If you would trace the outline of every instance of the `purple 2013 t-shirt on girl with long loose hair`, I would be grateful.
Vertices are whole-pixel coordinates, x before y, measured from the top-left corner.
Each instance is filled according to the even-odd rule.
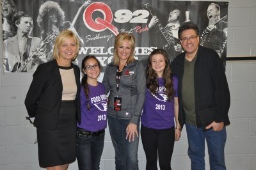
[[[174,126],[174,98],[170,102],[164,94],[165,86],[163,77],[157,78],[159,83],[158,95],[146,92],[141,123],[143,126],[154,129],[166,129]],[[174,97],[178,97],[178,79],[173,75]]]

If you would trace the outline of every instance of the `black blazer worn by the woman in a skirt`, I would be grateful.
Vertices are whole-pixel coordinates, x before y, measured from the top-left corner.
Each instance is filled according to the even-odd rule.
[[[80,70],[72,63],[76,77],[77,121],[81,123],[80,108]],[[54,59],[39,65],[33,74],[25,105],[30,118],[35,117],[34,125],[38,128],[55,130],[58,125],[62,98],[62,81],[58,63]]]

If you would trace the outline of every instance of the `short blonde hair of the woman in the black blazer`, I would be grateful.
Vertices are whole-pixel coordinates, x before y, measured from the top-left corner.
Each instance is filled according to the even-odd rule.
[[[80,49],[80,42],[76,36],[75,33],[73,33],[72,31],[69,30],[63,30],[61,31],[61,33],[57,36],[55,43],[54,43],[54,48],[53,48],[53,59],[58,59],[59,58],[59,52],[58,49],[60,48],[60,45],[65,42],[68,38],[73,38],[74,42],[77,45],[77,49],[76,49],[76,55],[74,56],[73,60],[76,59],[77,54],[79,52]]]

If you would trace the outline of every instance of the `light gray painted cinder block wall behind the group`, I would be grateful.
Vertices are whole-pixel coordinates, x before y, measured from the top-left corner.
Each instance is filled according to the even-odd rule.
[[[228,5],[228,56],[256,56],[256,1],[230,0]],[[0,49],[0,55],[2,50]],[[0,57],[2,58],[2,56]],[[0,61],[0,169],[35,170],[38,166],[36,129],[31,126],[24,98],[32,81],[31,73],[3,74]],[[225,160],[227,169],[256,169],[256,61],[227,62],[226,75],[230,88],[231,125],[227,127]],[[175,143],[172,169],[190,169],[186,130]],[[115,169],[115,152],[108,128],[100,169]],[[145,169],[145,153],[140,142],[140,169]],[[207,148],[206,169],[209,169]],[[77,168],[77,162],[70,164]]]

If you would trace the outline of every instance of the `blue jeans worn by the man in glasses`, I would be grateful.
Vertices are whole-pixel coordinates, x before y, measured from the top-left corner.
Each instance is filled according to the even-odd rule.
[[[223,170],[225,166],[224,148],[227,139],[226,127],[218,132],[213,130],[203,131],[186,123],[188,135],[188,155],[191,160],[191,170],[205,169],[205,139],[208,147],[211,170]]]

